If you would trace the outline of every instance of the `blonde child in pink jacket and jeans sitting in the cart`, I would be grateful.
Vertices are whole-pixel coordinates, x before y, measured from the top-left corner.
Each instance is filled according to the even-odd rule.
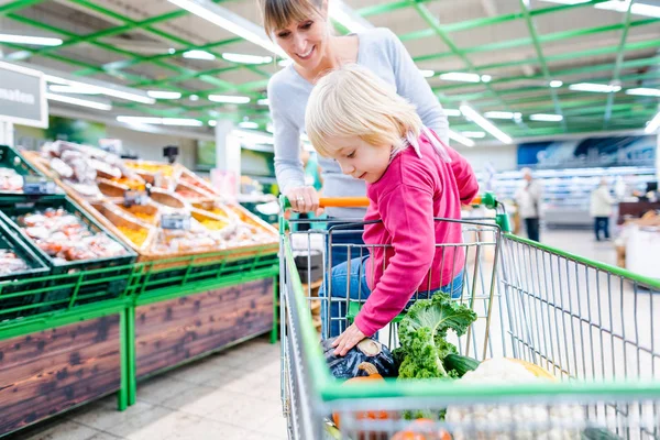
[[[461,224],[433,219],[460,219],[461,202],[473,199],[479,184],[468,161],[424,127],[409,101],[356,64],[317,82],[306,127],[321,156],[366,183],[370,201],[364,218],[370,255],[334,266],[329,283],[332,298],[366,298],[354,323],[333,342],[343,356],[388,324],[418,288],[425,290],[420,297],[438,290],[460,297],[464,251],[436,243],[462,243]],[[326,286],[319,296],[326,296]],[[330,322],[321,306],[323,334],[340,333],[343,305],[331,301]]]

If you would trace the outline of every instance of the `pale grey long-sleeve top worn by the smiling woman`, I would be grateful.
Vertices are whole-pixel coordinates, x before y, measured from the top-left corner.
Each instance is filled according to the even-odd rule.
[[[397,94],[417,107],[424,124],[433,129],[449,144],[449,123],[433,95],[403,43],[388,29],[373,29],[358,34],[358,63],[370,68]],[[300,134],[305,132],[305,110],[314,85],[293,66],[275,74],[268,82],[268,101],[275,130],[275,174],[282,193],[305,186],[300,161]],[[319,157],[323,176],[323,196],[365,196],[366,185],[342,174],[336,161]],[[329,208],[328,216],[346,219],[363,218],[360,208]]]

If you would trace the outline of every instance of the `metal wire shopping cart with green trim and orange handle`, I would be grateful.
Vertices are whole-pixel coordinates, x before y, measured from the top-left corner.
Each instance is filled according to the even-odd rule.
[[[360,224],[296,234],[282,219],[282,399],[289,438],[660,438],[660,324],[653,322],[660,280],[515,237],[507,232],[503,206],[492,197],[486,205],[496,216],[460,221],[464,241],[452,244],[464,250],[455,300],[479,316],[454,342],[461,354],[525,360],[558,381],[387,380],[342,386],[326,364],[319,341],[327,334],[317,332],[310,310],[318,309],[318,301],[343,301],[348,324],[360,300],[346,304],[343,295],[331,293],[315,297],[312,280],[298,275],[294,252],[321,249],[327,280],[333,235]],[[355,256],[370,251],[345,246]],[[380,333],[391,349],[397,344],[396,330],[392,324]],[[406,419],[422,409],[430,420]],[[364,417],[377,411],[391,417]],[[340,431],[329,422],[332,414],[341,417]]]

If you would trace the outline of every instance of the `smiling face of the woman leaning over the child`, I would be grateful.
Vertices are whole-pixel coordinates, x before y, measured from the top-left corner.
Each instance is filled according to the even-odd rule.
[[[323,7],[323,14],[327,9]],[[328,23],[324,16],[314,13],[275,31],[275,41],[298,66],[314,70],[323,58],[328,44]]]

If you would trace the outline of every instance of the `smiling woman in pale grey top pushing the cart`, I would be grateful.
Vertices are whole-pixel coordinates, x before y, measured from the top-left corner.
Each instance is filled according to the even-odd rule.
[[[332,1],[332,0],[330,0]],[[268,82],[268,101],[275,130],[275,174],[279,188],[296,211],[318,211],[316,189],[305,185],[299,138],[305,110],[317,79],[345,63],[358,63],[393,86],[417,108],[424,124],[449,144],[449,127],[442,107],[413,58],[387,29],[336,36],[328,23],[328,0],[261,0],[266,34],[292,58],[292,65]],[[326,197],[365,196],[364,182],[343,175],[333,160],[319,158]],[[337,219],[361,221],[365,209],[329,208],[329,227]],[[332,266],[348,260],[344,243],[363,243],[362,231],[332,234]],[[339,244],[339,245],[338,245]],[[355,251],[353,251],[355,252]],[[355,255],[352,255],[355,256]]]

